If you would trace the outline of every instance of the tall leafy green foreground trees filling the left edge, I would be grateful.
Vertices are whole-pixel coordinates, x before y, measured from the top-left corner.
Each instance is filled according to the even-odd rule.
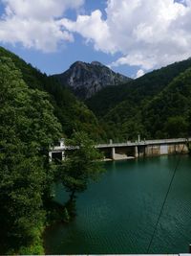
[[[0,253],[42,252],[43,197],[52,179],[47,152],[61,127],[48,95],[29,89],[11,58],[3,57],[0,120]]]

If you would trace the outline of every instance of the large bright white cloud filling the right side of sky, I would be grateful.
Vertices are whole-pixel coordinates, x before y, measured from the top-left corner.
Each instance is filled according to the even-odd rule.
[[[191,56],[191,0],[108,0],[100,11],[60,22],[96,50],[120,53],[111,66],[128,64],[147,71]]]

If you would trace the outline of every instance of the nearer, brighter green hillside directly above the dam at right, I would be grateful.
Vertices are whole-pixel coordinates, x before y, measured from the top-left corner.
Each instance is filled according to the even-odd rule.
[[[191,69],[153,95],[138,102],[123,101],[103,117],[103,126],[116,140],[175,138],[190,134]],[[140,96],[141,97],[141,96]],[[112,128],[112,129],[111,129]]]

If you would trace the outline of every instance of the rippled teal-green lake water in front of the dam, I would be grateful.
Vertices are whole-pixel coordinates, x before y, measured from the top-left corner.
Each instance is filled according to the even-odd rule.
[[[191,157],[108,162],[107,172],[77,198],[77,217],[46,233],[49,254],[146,253],[171,176],[180,165],[149,253],[188,252]],[[56,200],[66,201],[61,186]]]

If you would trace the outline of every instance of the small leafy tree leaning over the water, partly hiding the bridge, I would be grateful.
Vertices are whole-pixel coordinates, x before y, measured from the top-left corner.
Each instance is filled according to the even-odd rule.
[[[67,207],[71,214],[70,206],[74,204],[75,194],[85,191],[89,182],[96,180],[103,168],[100,162],[102,154],[85,132],[74,132],[66,144],[73,146],[74,150],[66,151],[59,172],[66,191],[70,193]]]

